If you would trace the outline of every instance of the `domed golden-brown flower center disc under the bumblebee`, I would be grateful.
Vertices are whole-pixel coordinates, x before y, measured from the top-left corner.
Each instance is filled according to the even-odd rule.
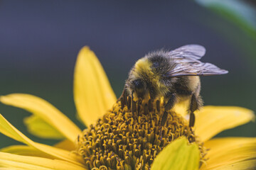
[[[167,113],[161,125],[161,102],[122,98],[78,137],[78,153],[88,169],[150,169],[156,155],[171,141],[181,136],[196,141],[187,120]]]

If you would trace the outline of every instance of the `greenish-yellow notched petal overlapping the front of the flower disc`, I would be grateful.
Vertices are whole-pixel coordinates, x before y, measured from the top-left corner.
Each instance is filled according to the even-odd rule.
[[[182,137],[167,145],[154,159],[151,170],[196,170],[199,167],[199,149],[193,143],[188,145]]]

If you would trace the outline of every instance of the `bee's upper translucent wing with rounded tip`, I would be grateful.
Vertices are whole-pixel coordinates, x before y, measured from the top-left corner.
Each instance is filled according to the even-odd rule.
[[[196,62],[206,54],[206,48],[201,45],[184,45],[169,52],[169,57],[176,62]]]

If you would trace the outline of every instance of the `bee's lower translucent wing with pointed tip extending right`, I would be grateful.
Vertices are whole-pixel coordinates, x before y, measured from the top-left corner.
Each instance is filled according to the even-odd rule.
[[[180,62],[176,63],[175,67],[171,69],[167,75],[168,77],[181,77],[181,76],[210,76],[216,74],[227,74],[228,71],[220,69],[214,64],[208,62]]]

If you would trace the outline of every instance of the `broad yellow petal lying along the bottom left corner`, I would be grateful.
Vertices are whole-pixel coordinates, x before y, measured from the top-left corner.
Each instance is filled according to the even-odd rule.
[[[86,170],[82,166],[61,160],[29,157],[0,152],[0,167],[31,170]]]

